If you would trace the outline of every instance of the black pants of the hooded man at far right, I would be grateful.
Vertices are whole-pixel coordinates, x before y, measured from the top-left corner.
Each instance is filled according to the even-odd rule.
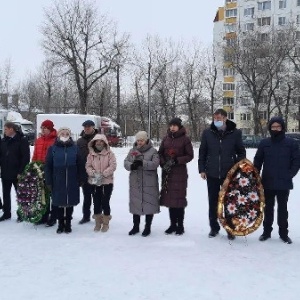
[[[285,237],[288,235],[288,210],[287,203],[289,199],[289,190],[265,190],[265,219],[264,234],[271,235],[274,221],[275,197],[277,198],[277,224],[279,235]]]

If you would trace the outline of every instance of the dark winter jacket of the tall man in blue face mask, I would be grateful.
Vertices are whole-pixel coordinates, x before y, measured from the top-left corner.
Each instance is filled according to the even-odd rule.
[[[232,166],[246,157],[242,132],[226,121],[226,130],[219,131],[212,123],[203,131],[199,148],[198,170],[208,177],[223,179]]]

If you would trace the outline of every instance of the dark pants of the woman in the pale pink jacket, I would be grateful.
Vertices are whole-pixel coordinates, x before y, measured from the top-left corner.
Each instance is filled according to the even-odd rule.
[[[110,215],[110,197],[113,190],[113,184],[104,184],[101,186],[93,186],[93,200],[94,200],[94,214],[101,214],[102,211],[105,216]]]

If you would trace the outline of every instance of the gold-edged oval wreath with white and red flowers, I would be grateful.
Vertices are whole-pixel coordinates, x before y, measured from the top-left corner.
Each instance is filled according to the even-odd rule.
[[[258,171],[248,159],[228,172],[219,193],[218,218],[225,230],[245,236],[259,228],[263,220],[264,191]]]

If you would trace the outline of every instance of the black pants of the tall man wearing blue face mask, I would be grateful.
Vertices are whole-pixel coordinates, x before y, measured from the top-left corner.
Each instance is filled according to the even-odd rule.
[[[209,226],[214,231],[220,230],[218,223],[218,199],[224,180],[225,178],[207,177]]]

